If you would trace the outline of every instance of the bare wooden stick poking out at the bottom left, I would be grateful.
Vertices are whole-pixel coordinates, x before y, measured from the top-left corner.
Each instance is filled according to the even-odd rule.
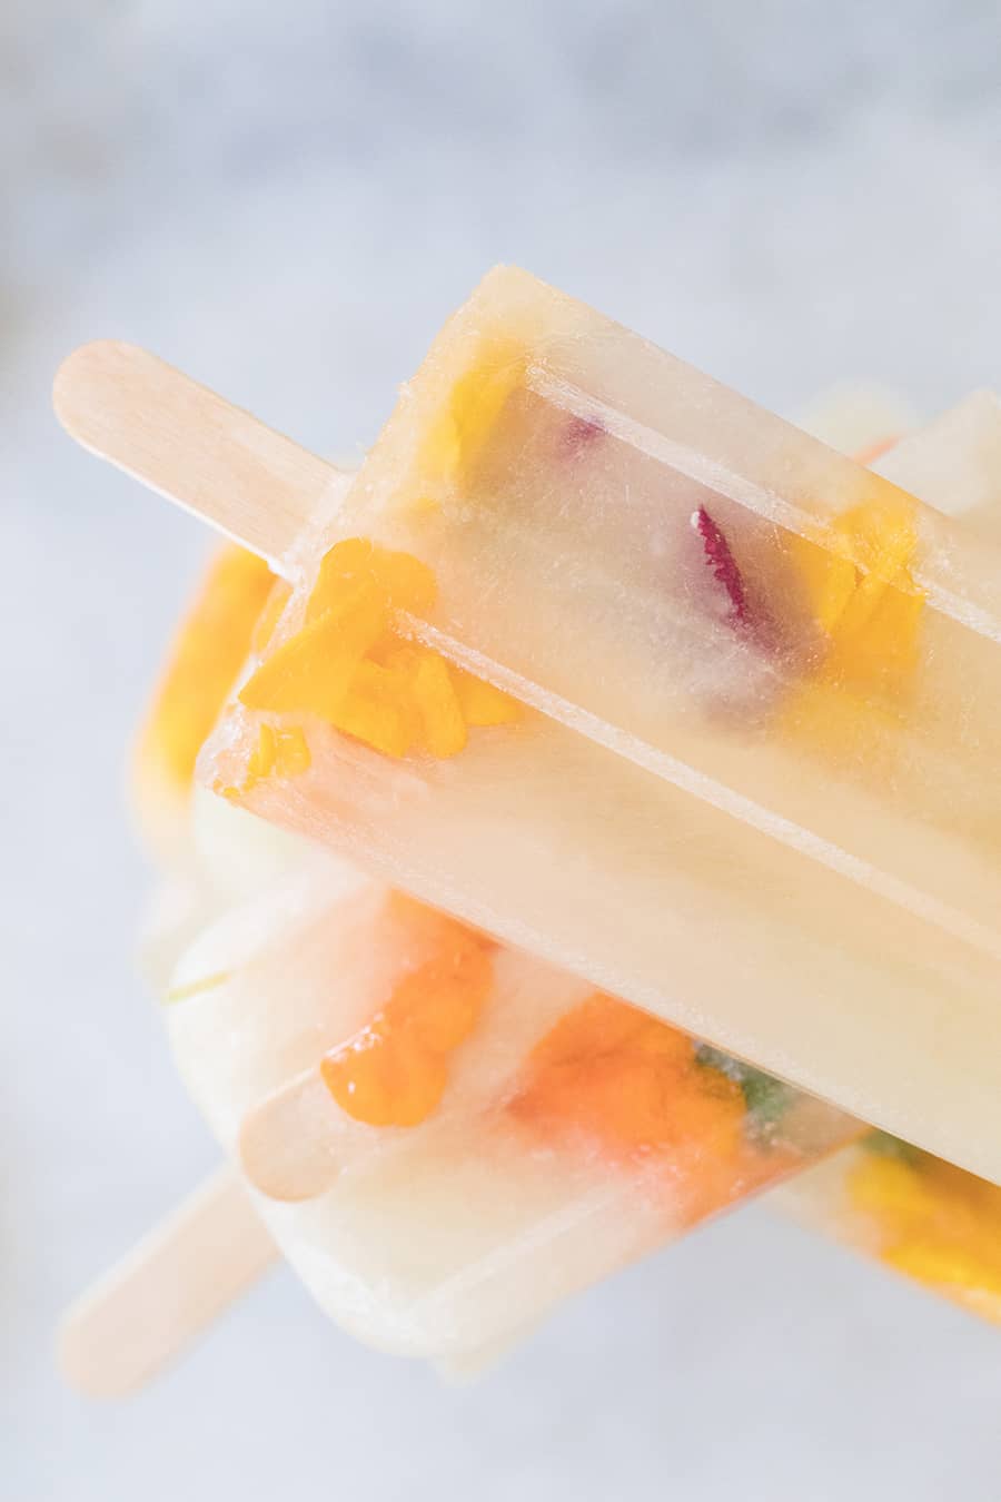
[[[240,1179],[219,1169],[66,1311],[63,1376],[87,1397],[135,1392],[278,1257]]]

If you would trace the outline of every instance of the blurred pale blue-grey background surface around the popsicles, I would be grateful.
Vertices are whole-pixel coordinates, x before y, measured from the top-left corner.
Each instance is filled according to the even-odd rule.
[[[450,1389],[278,1272],[128,1407],[60,1307],[212,1163],[131,963],[125,748],[206,538],[74,449],[147,344],[357,454],[498,260],[795,412],[1001,386],[996,0],[6,0],[3,1502],[1001,1496],[1001,1338],[764,1209]]]

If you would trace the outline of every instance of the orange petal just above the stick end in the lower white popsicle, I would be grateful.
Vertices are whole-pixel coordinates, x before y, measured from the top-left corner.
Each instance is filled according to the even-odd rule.
[[[441,951],[405,975],[372,1021],[321,1062],[338,1105],[369,1126],[426,1120],[444,1093],[449,1057],[476,1027],[491,984],[486,945],[446,922]]]

